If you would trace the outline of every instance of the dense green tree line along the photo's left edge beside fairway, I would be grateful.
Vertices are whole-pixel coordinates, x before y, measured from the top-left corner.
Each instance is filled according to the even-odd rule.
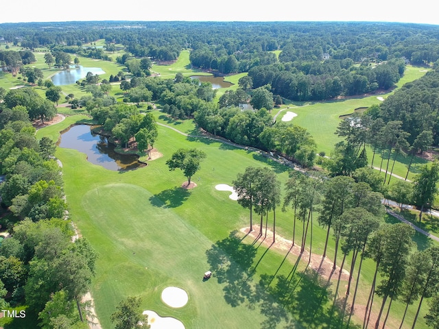
[[[42,114],[40,106],[53,112]],[[0,245],[0,305],[27,306],[42,328],[86,328],[81,300],[97,254],[86,239],[72,243],[56,145],[48,137],[38,141],[31,123],[55,113],[31,88],[10,90],[1,103],[1,225],[12,236]]]

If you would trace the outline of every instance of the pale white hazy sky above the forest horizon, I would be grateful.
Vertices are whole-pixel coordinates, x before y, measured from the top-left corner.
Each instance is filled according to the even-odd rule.
[[[388,21],[439,25],[434,1],[409,3],[401,0],[1,0],[0,23]]]

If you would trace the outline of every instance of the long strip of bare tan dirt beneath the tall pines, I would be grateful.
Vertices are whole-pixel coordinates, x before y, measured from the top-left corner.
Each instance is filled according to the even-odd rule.
[[[241,232],[245,233],[248,236],[251,236],[256,241],[261,242],[266,247],[270,247],[272,249],[281,250],[282,252],[288,252],[291,254],[294,254],[295,256],[300,256],[300,245],[297,243],[292,246],[293,241],[287,240],[283,238],[283,236],[280,236],[278,234],[275,235],[275,243],[272,243],[273,241],[273,232],[270,230],[267,230],[267,237],[265,236],[265,230],[263,230],[262,236],[259,236],[259,226],[254,225],[252,232],[248,233],[250,228],[241,228]],[[258,237],[259,236],[259,237]],[[309,260],[309,250],[305,249],[304,252],[302,252],[301,260],[305,263]],[[329,279],[329,276],[331,276],[331,280],[338,280],[338,276],[340,273],[340,267],[335,267],[335,271],[333,271],[333,262],[325,257],[322,259],[322,255],[317,254],[311,254],[311,261],[309,263],[309,267],[313,269],[314,271],[318,272],[320,276],[323,278]],[[348,280],[349,278],[349,272],[346,271],[346,269],[343,269],[342,271],[342,277],[341,280]],[[353,278],[353,281],[355,278]]]

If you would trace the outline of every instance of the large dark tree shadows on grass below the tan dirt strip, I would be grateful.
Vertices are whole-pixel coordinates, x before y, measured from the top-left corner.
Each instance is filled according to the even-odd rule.
[[[243,243],[236,232],[213,244],[206,256],[213,278],[222,284],[224,300],[230,306],[242,304],[263,315],[255,328],[341,328],[344,323],[340,304],[331,306],[330,283],[312,269],[298,272],[296,263],[288,276],[262,273],[255,282],[254,263],[261,261],[255,259],[257,248]],[[348,328],[359,326],[350,324]]]

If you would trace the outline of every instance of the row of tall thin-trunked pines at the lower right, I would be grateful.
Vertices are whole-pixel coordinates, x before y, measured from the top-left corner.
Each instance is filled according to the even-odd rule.
[[[364,174],[368,171],[368,175]],[[339,328],[349,328],[355,300],[357,297],[361,267],[365,258],[375,261],[375,270],[368,295],[368,302],[364,313],[363,328],[370,324],[370,314],[374,304],[374,297],[381,297],[381,305],[375,305],[378,316],[375,328],[385,328],[386,321],[397,298],[405,304],[405,311],[401,317],[401,326],[410,304],[418,300],[416,315],[412,328],[416,322],[420,307],[425,299],[429,299],[429,312],[425,316],[427,324],[436,328],[438,318],[437,302],[439,282],[439,248],[428,247],[423,251],[413,252],[414,229],[405,223],[383,223],[384,206],[381,204],[383,195],[374,191],[370,186],[370,177],[377,175],[372,169],[359,169],[352,177],[337,175],[333,178],[324,175],[306,175],[292,172],[285,183],[284,193],[281,191],[281,182],[276,173],[268,167],[247,167],[243,173],[237,175],[233,186],[238,195],[238,203],[250,210],[250,232],[254,230],[253,212],[259,215],[258,236],[263,235],[265,219],[265,238],[268,230],[268,214],[272,212],[273,242],[276,239],[276,209],[290,212],[292,217],[293,237],[292,245],[300,246],[300,257],[309,249],[308,264],[313,251],[313,217],[317,217],[318,224],[326,228],[327,234],[322,257],[327,256],[329,237],[335,241],[333,269],[336,269],[338,252],[342,252],[340,274],[337,286],[333,292],[332,307],[340,308]],[[379,178],[379,175],[378,175]],[[373,185],[373,184],[372,184]],[[283,198],[281,195],[284,195]],[[301,223],[302,234],[300,241],[296,241],[296,225]],[[341,297],[337,304],[337,293],[340,288],[341,273],[346,257],[351,257],[346,296]],[[353,273],[357,271],[355,286]],[[278,280],[281,280],[279,277]],[[347,302],[351,304],[348,306]],[[401,328],[400,326],[400,328]]]

